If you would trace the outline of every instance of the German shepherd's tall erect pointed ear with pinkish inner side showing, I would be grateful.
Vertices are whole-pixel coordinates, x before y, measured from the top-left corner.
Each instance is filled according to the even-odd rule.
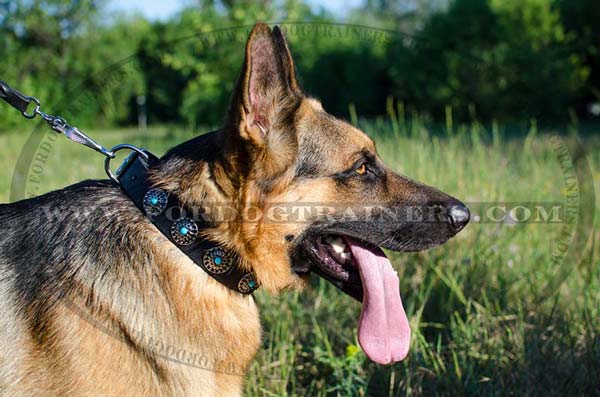
[[[230,121],[243,139],[262,146],[300,95],[294,62],[281,30],[275,27],[271,32],[266,24],[256,24],[246,43]]]

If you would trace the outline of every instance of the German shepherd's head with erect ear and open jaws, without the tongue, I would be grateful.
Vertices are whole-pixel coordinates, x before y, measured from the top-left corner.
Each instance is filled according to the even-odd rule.
[[[302,93],[278,27],[252,30],[226,131],[240,213],[252,206],[262,214],[236,233],[269,290],[315,271],[360,299],[348,241],[419,251],[469,221],[464,204],[396,174],[365,133]]]

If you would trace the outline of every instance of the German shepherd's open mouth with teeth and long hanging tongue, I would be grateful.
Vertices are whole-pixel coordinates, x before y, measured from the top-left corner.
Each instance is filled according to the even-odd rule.
[[[358,341],[371,360],[389,364],[404,359],[410,326],[400,297],[400,280],[383,251],[349,236],[325,234],[305,239],[301,252],[314,272],[348,295],[362,301]],[[306,261],[303,261],[306,263]]]

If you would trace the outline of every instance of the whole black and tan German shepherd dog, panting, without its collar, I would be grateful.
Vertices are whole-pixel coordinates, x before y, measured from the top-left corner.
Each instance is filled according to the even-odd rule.
[[[424,250],[469,220],[464,204],[394,173],[367,135],[305,96],[281,30],[265,24],[249,36],[224,127],[170,150],[151,177],[209,217],[212,203],[239,214],[369,203],[356,219],[214,219],[205,235],[271,293],[303,287],[312,272],[363,291],[358,338],[381,364],[406,356],[410,329],[380,247]],[[436,210],[383,216],[398,207]],[[253,297],[209,277],[118,186],[84,181],[1,205],[0,225],[0,395],[241,395],[261,343]]]

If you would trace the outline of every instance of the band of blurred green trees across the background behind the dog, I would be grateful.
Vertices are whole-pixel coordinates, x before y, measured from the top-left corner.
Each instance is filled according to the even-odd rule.
[[[379,116],[389,97],[437,120],[448,109],[458,120],[588,116],[600,98],[597,2],[445,3],[371,1],[340,25],[302,0],[202,1],[152,23],[94,0],[10,0],[0,77],[81,126],[134,123],[138,95],[150,123],[218,125],[247,34],[266,20],[281,21],[302,85],[339,116]],[[0,114],[1,129],[23,123]]]

